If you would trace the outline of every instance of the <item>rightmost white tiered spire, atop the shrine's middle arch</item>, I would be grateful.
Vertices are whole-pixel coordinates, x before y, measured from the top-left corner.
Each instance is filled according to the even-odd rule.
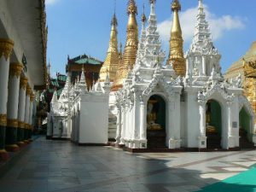
[[[210,77],[212,67],[221,74],[219,61],[221,55],[213,46],[209,24],[206,20],[202,0],[198,0],[198,14],[196,16],[195,34],[187,54],[187,77]],[[202,79],[201,79],[202,80]],[[204,79],[205,81],[207,79]]]

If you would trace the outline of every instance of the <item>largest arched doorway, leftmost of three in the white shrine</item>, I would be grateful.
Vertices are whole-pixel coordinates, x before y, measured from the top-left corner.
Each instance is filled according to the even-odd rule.
[[[150,96],[147,105],[148,148],[166,148],[166,102],[161,96]]]

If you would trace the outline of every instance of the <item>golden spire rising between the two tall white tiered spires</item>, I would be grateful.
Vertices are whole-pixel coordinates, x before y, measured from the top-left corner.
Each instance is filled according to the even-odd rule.
[[[173,0],[173,21],[168,64],[172,65],[177,76],[184,76],[186,73],[186,61],[183,55],[183,32],[178,18],[178,11],[180,10],[181,5],[178,0]]]

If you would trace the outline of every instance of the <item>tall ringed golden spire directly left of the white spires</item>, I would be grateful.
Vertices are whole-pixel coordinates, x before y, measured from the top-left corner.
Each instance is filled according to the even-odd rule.
[[[136,20],[137,5],[135,0],[129,0],[127,14],[129,15],[129,19],[126,31],[125,51],[121,64],[118,67],[116,78],[113,81],[113,91],[118,90],[123,86],[123,81],[127,77],[129,68],[133,68],[137,57],[138,27]]]

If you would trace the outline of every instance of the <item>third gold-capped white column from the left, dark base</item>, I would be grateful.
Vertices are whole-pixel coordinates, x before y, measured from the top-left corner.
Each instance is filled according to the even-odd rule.
[[[20,78],[20,93],[19,93],[19,108],[18,108],[18,131],[17,143],[19,146],[24,145],[24,130],[25,130],[25,107],[26,107],[26,77]]]

